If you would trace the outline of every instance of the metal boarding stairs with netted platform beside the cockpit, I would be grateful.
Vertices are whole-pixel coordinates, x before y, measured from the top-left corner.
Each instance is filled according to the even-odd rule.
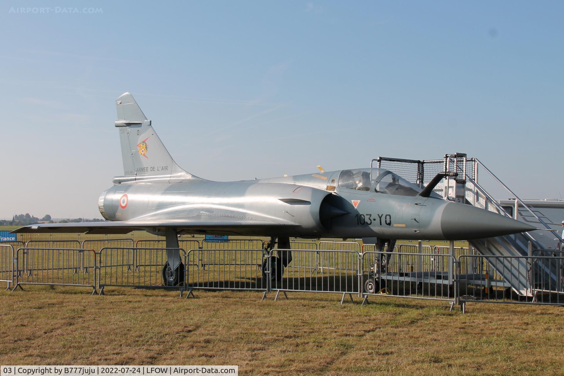
[[[531,210],[477,158],[468,158],[466,154],[462,153],[445,154],[442,160],[430,161],[378,157],[371,161],[371,167],[374,162],[378,163],[377,167],[392,170],[421,187],[428,183],[437,172],[456,171],[458,176],[445,178],[435,187],[434,191],[446,200],[477,206],[513,219],[518,219],[519,210],[525,211],[528,218],[534,222],[533,225],[546,228],[547,232],[552,233],[549,236],[550,240],[558,241],[559,245],[563,242],[556,230],[550,228],[534,210]],[[509,214],[478,183],[478,169],[487,172],[495,182],[513,196],[515,200],[513,215]],[[539,293],[562,294],[564,291],[561,258],[564,252],[559,249],[550,249],[547,244],[547,236],[535,238],[534,233],[518,233],[470,240],[469,244],[482,256],[468,258],[468,262],[459,263],[457,271],[459,281],[474,285],[484,285],[486,282],[491,287],[510,288],[521,297],[534,299]],[[469,253],[472,254],[472,251],[470,250]],[[558,262],[550,260],[547,256],[559,256]],[[484,267],[484,263],[488,263],[490,267]],[[487,275],[484,275],[484,272]]]

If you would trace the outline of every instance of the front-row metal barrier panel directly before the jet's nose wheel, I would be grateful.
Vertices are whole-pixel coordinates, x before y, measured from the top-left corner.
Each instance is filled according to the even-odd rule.
[[[451,255],[365,251],[363,295],[455,301]]]

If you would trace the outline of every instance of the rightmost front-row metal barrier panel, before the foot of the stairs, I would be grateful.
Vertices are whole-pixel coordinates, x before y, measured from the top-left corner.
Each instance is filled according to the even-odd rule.
[[[479,266],[457,274],[463,312],[466,302],[564,305],[563,256],[461,255],[459,263]]]

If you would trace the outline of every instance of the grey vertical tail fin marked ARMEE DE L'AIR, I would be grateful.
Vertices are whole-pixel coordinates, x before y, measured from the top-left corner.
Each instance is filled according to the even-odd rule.
[[[181,169],[158,138],[151,121],[133,95],[126,92],[116,100],[116,127],[120,130],[124,178],[117,182],[169,180],[179,182],[193,176]],[[116,182],[114,179],[114,182]],[[116,183],[117,183],[116,182]]]

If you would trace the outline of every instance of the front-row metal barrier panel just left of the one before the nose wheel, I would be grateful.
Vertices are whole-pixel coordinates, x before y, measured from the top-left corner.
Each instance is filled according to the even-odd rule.
[[[284,253],[292,261],[283,266]],[[271,250],[271,290],[358,294],[359,253],[337,250]]]

